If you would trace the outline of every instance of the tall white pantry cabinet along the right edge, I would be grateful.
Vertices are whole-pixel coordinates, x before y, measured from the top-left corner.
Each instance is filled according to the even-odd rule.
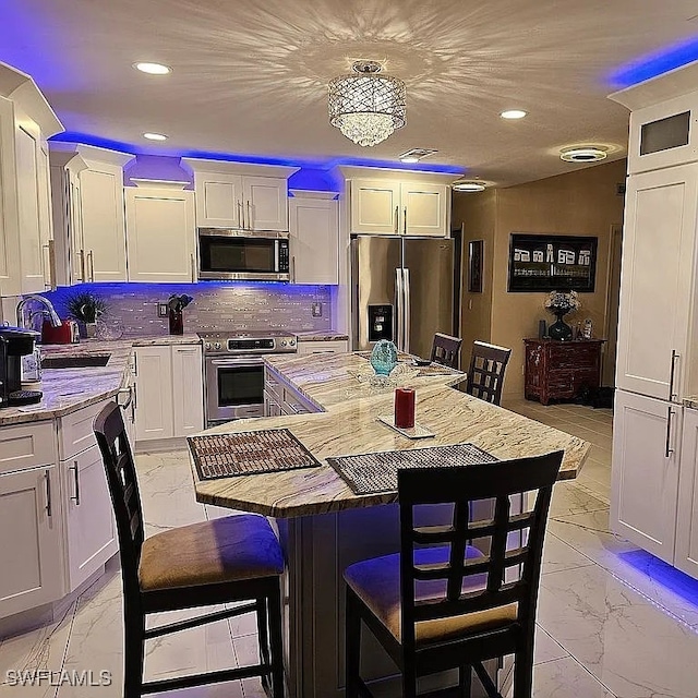
[[[631,111],[611,526],[695,578],[697,84],[698,67],[689,65],[611,95]]]

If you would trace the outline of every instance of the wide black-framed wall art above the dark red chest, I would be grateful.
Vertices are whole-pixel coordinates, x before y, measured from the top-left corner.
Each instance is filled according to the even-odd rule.
[[[513,232],[509,291],[594,290],[598,238]]]

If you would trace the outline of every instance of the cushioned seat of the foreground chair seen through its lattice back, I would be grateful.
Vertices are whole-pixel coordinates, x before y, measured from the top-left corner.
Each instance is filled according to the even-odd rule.
[[[416,551],[416,565],[441,565],[448,562],[448,546]],[[484,555],[471,545],[466,549],[466,558],[483,558]],[[461,592],[481,591],[485,588],[486,574],[464,579]],[[400,555],[373,557],[350,565],[345,569],[345,580],[363,601],[373,615],[386,627],[393,637],[401,641],[400,633]],[[443,598],[445,581],[431,580],[420,583],[416,601]],[[414,630],[416,646],[423,647],[442,640],[457,639],[484,630],[494,630],[516,623],[517,604],[510,603],[496,609],[449,616],[438,621],[418,623]]]

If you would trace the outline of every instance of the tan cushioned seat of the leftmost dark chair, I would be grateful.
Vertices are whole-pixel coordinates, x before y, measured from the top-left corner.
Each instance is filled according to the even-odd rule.
[[[143,541],[142,591],[198,587],[284,574],[269,522],[240,515],[182,526]]]

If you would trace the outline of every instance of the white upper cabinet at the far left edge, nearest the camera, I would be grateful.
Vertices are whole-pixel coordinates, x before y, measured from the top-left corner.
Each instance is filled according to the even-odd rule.
[[[34,81],[0,63],[0,294],[44,291],[50,196],[46,140],[63,130]]]

